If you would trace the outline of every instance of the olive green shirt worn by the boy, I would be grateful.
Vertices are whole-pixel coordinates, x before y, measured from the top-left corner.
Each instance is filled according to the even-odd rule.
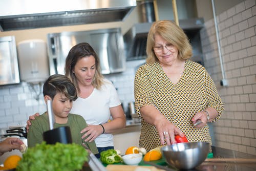
[[[60,127],[60,126],[70,127],[73,143],[77,143],[77,144],[86,143],[93,154],[98,153],[98,149],[94,141],[84,142],[84,139],[86,139],[87,137],[84,139],[81,139],[81,136],[85,133],[81,134],[80,131],[84,129],[84,127],[88,126],[82,116],[69,114],[67,123],[65,124],[54,123],[54,128]],[[50,126],[49,126],[49,119],[48,119],[47,112],[45,112],[40,116],[37,116],[35,120],[31,120],[31,126],[29,127],[29,132],[28,132],[28,147],[33,147],[35,146],[35,144],[41,143],[42,141],[44,141],[42,134],[49,130],[50,130]]]

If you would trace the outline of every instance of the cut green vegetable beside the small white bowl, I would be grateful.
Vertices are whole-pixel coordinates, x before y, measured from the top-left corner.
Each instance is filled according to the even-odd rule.
[[[108,149],[100,153],[100,160],[104,164],[113,164],[122,162],[122,157],[117,154],[115,149]]]

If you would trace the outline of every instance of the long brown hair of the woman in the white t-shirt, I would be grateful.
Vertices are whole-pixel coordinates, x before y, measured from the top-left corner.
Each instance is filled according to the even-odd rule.
[[[93,87],[99,90],[103,84],[103,75],[100,72],[99,57],[90,44],[88,44],[87,42],[82,42],[80,44],[75,45],[71,48],[66,58],[65,75],[72,80],[78,92],[80,92],[80,89],[78,86],[77,78],[72,71],[79,59],[91,55],[95,58],[96,67],[92,85]]]

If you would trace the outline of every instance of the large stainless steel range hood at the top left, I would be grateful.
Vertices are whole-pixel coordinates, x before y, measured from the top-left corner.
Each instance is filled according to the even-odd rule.
[[[136,0],[1,0],[0,30],[122,21]]]

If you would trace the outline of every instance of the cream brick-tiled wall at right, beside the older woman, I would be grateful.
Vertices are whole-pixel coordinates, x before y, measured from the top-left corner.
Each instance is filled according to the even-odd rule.
[[[228,87],[221,87],[220,59],[214,19],[201,30],[205,67],[215,80],[225,103],[215,122],[219,147],[256,155],[256,5],[247,0],[217,16],[221,54]]]

